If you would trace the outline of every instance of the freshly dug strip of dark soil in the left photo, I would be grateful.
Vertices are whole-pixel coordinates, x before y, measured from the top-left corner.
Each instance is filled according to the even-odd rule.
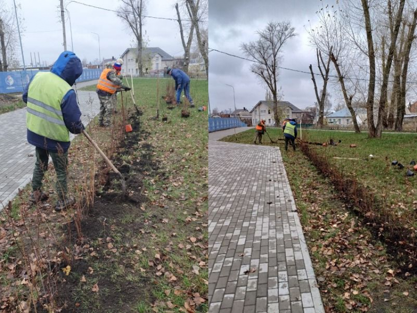
[[[128,253],[131,240],[129,234],[138,233],[144,228],[143,223],[138,222],[142,220],[144,212],[140,209],[141,204],[146,201],[146,196],[142,194],[143,191],[143,177],[144,173],[158,171],[158,167],[152,156],[153,147],[147,143],[138,146],[138,142],[147,137],[145,130],[140,128],[139,115],[131,118],[131,126],[133,131],[126,134],[125,141],[119,147],[117,156],[112,160],[113,164],[120,170],[126,180],[126,187],[129,196],[122,199],[120,191],[119,178],[113,172],[108,172],[106,183],[102,192],[97,192],[95,203],[88,212],[83,212],[84,216],[81,221],[82,239],[78,240],[76,227],[74,222],[71,223],[67,229],[65,241],[67,246],[69,243],[77,241],[77,244],[83,247],[93,246],[94,242],[98,240],[106,240],[113,230],[117,229],[117,234],[121,234],[118,246],[118,258],[123,260],[123,254]],[[140,160],[133,161],[127,164],[123,161],[123,156],[129,155],[130,151],[142,149],[146,151],[148,158],[140,158]],[[131,222],[123,220],[125,216],[129,215]],[[153,212],[148,219],[157,221],[162,218],[160,212]],[[116,244],[115,244],[116,246]],[[117,257],[109,257],[108,251],[105,249],[97,249],[94,259],[95,263],[100,263],[100,268],[105,269],[94,271],[91,274],[92,266],[89,258],[91,257],[91,250],[87,249],[87,253],[82,255],[83,259],[76,260],[71,264],[71,275],[65,276],[62,271],[59,272],[59,279],[57,284],[57,293],[55,299],[62,307],[62,313],[86,313],[86,312],[135,312],[133,307],[138,302],[138,299],[151,298],[152,282],[146,276],[141,277],[140,272],[135,272],[137,280],[134,282],[118,279],[112,280],[115,265],[120,260]],[[131,250],[131,249],[130,249]],[[90,255],[88,255],[90,254]],[[80,256],[78,256],[80,257]],[[67,264],[60,264],[60,268]],[[90,270],[89,270],[90,267]],[[129,270],[131,264],[124,264],[126,270]],[[130,269],[133,272],[132,269]],[[100,304],[98,308],[85,308],[77,299],[77,293],[82,287],[80,278],[85,275],[89,279],[94,278],[97,281],[100,291],[94,293],[91,290],[91,297],[95,298],[95,302]],[[78,289],[78,291],[76,291]]]

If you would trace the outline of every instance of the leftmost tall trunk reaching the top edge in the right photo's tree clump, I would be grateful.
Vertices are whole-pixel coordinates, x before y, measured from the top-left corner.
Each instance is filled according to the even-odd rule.
[[[368,136],[375,137],[375,124],[373,121],[373,105],[375,99],[375,50],[373,47],[371,20],[369,15],[369,6],[367,0],[362,1],[362,8],[364,10],[366,40],[368,43],[368,58],[369,58],[369,84],[368,84],[368,99],[366,101],[366,116],[368,124]]]

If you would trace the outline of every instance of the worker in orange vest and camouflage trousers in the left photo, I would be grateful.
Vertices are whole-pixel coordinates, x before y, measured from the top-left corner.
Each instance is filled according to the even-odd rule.
[[[122,65],[115,62],[112,67],[106,67],[100,75],[97,83],[97,95],[100,100],[99,125],[103,127],[110,126],[110,117],[116,107],[116,90],[122,88],[129,91],[130,88],[123,85],[119,78]]]

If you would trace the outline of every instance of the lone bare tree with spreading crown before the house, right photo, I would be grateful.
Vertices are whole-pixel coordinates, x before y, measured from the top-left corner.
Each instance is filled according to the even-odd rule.
[[[258,30],[259,39],[243,43],[241,50],[254,63],[251,71],[266,83],[274,101],[274,119],[278,126],[278,66],[282,61],[282,48],[289,39],[296,36],[295,29],[288,21],[269,22],[265,29]]]

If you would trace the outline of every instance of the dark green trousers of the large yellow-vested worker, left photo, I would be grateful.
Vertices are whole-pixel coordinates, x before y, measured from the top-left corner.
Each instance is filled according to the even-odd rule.
[[[32,190],[42,189],[42,180],[45,176],[45,172],[48,170],[49,156],[52,158],[53,167],[56,172],[56,192],[58,199],[65,199],[68,186],[67,186],[67,165],[68,165],[68,151],[52,152],[42,148],[36,147],[36,163],[33,169],[32,177]]]

